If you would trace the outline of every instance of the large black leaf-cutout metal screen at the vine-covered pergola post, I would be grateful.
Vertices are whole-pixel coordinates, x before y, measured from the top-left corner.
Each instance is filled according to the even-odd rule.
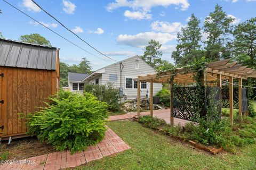
[[[204,87],[202,87],[204,90]],[[207,98],[211,97],[213,107],[221,114],[221,100],[219,87],[207,87],[206,96],[198,97],[197,87],[172,88],[172,116],[183,120],[195,121],[196,114],[206,116]]]

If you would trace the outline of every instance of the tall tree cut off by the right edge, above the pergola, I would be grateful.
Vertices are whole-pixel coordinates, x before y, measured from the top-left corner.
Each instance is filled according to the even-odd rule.
[[[256,18],[238,24],[234,30],[234,55],[239,63],[255,67]]]

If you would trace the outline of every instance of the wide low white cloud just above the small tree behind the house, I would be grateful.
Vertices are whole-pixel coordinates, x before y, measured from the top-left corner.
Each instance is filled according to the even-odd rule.
[[[159,41],[160,44],[166,44],[167,42],[176,39],[176,35],[171,35],[170,33],[161,32],[141,32],[137,35],[119,35],[117,37],[117,43],[132,47],[145,47],[151,39]]]

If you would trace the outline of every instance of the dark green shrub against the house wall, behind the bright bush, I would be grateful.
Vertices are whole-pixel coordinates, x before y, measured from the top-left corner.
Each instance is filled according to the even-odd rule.
[[[105,101],[109,105],[109,111],[121,111],[119,103],[119,90],[114,87],[113,83],[106,85],[85,84],[84,92],[90,92],[100,101]]]

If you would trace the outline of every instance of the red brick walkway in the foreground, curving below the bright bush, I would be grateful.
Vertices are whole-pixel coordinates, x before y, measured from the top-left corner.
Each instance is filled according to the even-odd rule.
[[[45,154],[41,156],[31,157],[27,160],[33,162],[36,161],[36,164],[9,164],[1,165],[0,169],[62,169],[69,167],[76,167],[88,162],[91,162],[96,159],[103,158],[105,156],[113,155],[118,152],[130,149],[129,147],[118,135],[113,132],[111,129],[105,133],[105,139],[95,146],[89,146],[87,150],[82,152],[76,152],[71,155],[69,150],[62,152],[53,152],[51,154]],[[23,160],[22,160],[23,163]]]

